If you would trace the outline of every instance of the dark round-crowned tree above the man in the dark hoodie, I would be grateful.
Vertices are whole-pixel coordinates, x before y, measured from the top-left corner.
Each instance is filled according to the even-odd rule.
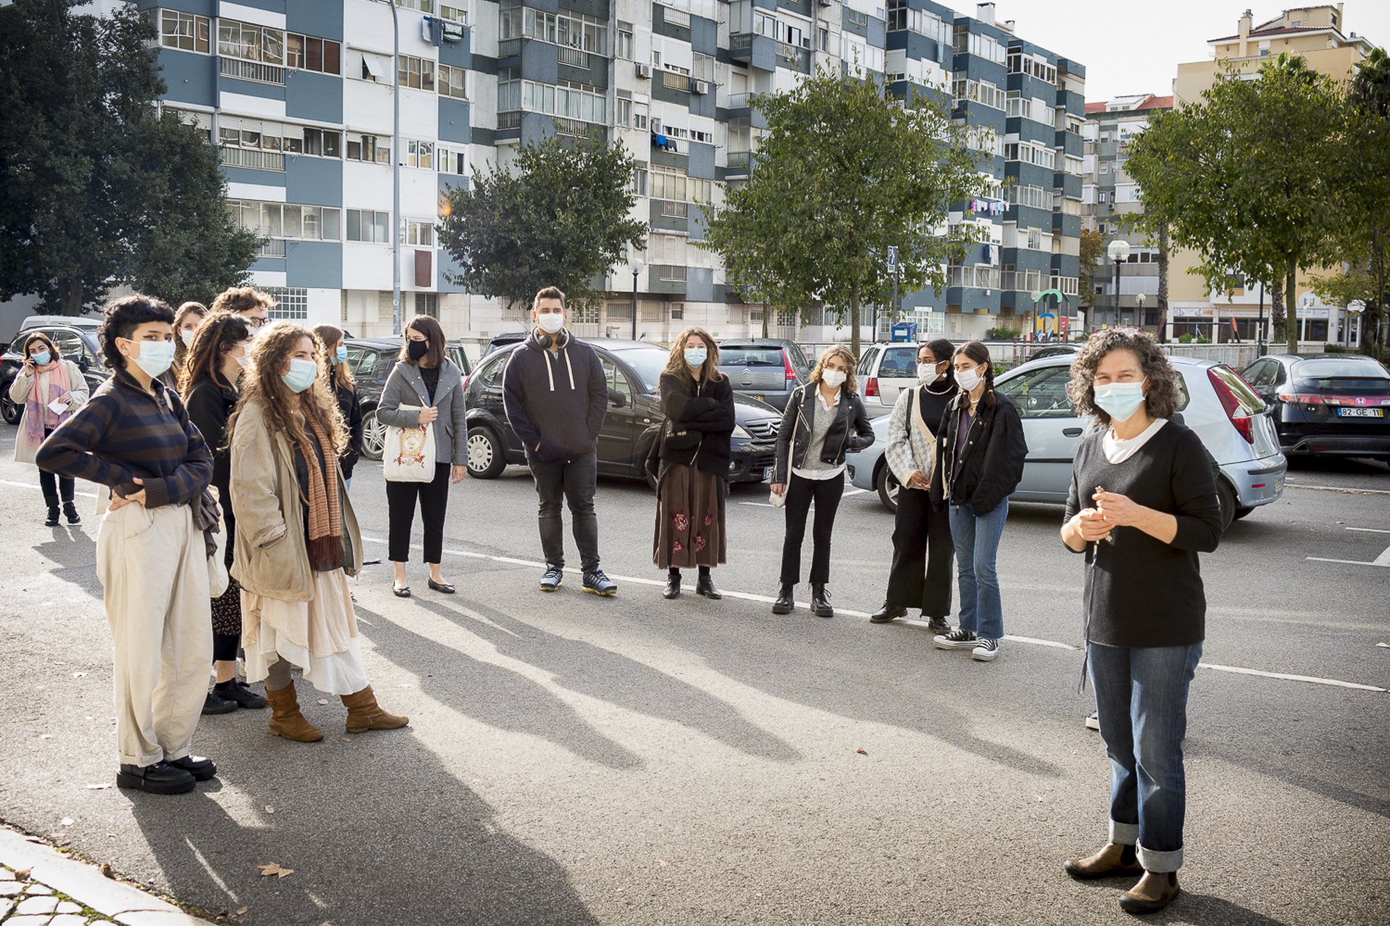
[[[521,146],[516,170],[474,168],[439,222],[439,243],[463,267],[450,279],[509,309],[545,286],[577,307],[598,302],[595,278],[646,239],[646,222],[630,216],[635,167],[620,145],[549,136]]]

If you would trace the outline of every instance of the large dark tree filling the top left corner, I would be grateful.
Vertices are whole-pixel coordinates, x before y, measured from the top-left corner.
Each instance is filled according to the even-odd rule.
[[[239,282],[257,238],[232,224],[211,145],[156,108],[154,25],[72,6],[0,10],[0,298],[79,314],[120,284],[178,302]]]

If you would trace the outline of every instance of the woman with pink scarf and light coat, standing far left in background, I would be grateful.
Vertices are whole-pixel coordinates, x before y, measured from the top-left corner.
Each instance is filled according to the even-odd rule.
[[[24,406],[19,432],[14,438],[14,462],[33,463],[39,445],[86,403],[89,388],[82,368],[61,357],[57,345],[42,331],[26,335],[19,353],[24,364],[10,381],[10,400]],[[68,524],[82,523],[72,477],[54,476],[40,469],[39,488],[43,489],[43,503],[49,509],[49,517],[43,521],[46,527],[58,526],[60,502]]]

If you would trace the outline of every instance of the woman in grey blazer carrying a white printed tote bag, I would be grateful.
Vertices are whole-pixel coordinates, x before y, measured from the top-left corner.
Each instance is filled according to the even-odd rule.
[[[435,437],[434,480],[386,482],[389,556],[396,570],[391,590],[396,598],[410,598],[406,562],[410,559],[410,528],[414,526],[418,503],[420,520],[425,526],[430,588],[452,595],[453,585],[439,573],[443,516],[449,506],[450,480],[459,482],[468,474],[468,425],[464,420],[463,373],[445,356],[443,328],[430,316],[416,316],[406,325],[400,360],[381,391],[377,420],[399,428],[431,424]]]

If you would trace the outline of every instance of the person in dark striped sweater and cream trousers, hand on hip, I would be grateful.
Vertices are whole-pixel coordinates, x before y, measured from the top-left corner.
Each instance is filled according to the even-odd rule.
[[[96,573],[115,644],[115,783],[179,794],[217,774],[190,755],[213,660],[210,552],[192,505],[213,455],[158,380],[174,362],[174,310],[150,296],[115,299],[99,338],[115,373],[43,442],[38,463],[111,488]]]

